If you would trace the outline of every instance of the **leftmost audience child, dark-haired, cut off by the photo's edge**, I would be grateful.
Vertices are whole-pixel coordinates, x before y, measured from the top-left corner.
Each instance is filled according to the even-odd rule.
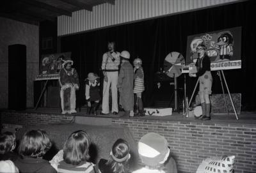
[[[16,137],[12,132],[4,132],[0,136],[0,160],[15,161],[18,154],[13,152],[16,147]]]

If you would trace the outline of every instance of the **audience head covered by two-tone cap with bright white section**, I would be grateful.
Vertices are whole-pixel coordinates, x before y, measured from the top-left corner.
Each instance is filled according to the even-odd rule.
[[[159,169],[168,159],[170,149],[167,140],[157,133],[147,133],[138,142],[141,162],[152,169]]]

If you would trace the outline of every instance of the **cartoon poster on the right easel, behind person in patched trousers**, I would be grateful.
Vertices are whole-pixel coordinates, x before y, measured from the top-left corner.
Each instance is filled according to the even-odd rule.
[[[241,68],[241,27],[188,36],[186,65],[195,65],[196,47],[204,43],[211,59],[211,70]],[[186,69],[182,71],[186,73]]]

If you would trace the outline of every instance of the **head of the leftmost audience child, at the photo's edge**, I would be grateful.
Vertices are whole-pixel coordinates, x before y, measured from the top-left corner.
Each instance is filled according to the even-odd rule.
[[[16,137],[12,132],[4,132],[0,136],[0,154],[13,151],[16,147]]]

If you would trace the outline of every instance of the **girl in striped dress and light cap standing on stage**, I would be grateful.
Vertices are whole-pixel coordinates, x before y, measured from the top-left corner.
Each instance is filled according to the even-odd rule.
[[[133,93],[136,95],[136,107],[137,110],[135,113],[136,116],[144,116],[143,102],[141,100],[141,95],[145,90],[144,87],[144,71],[142,68],[142,60],[136,58],[133,61],[134,65],[134,89]]]

